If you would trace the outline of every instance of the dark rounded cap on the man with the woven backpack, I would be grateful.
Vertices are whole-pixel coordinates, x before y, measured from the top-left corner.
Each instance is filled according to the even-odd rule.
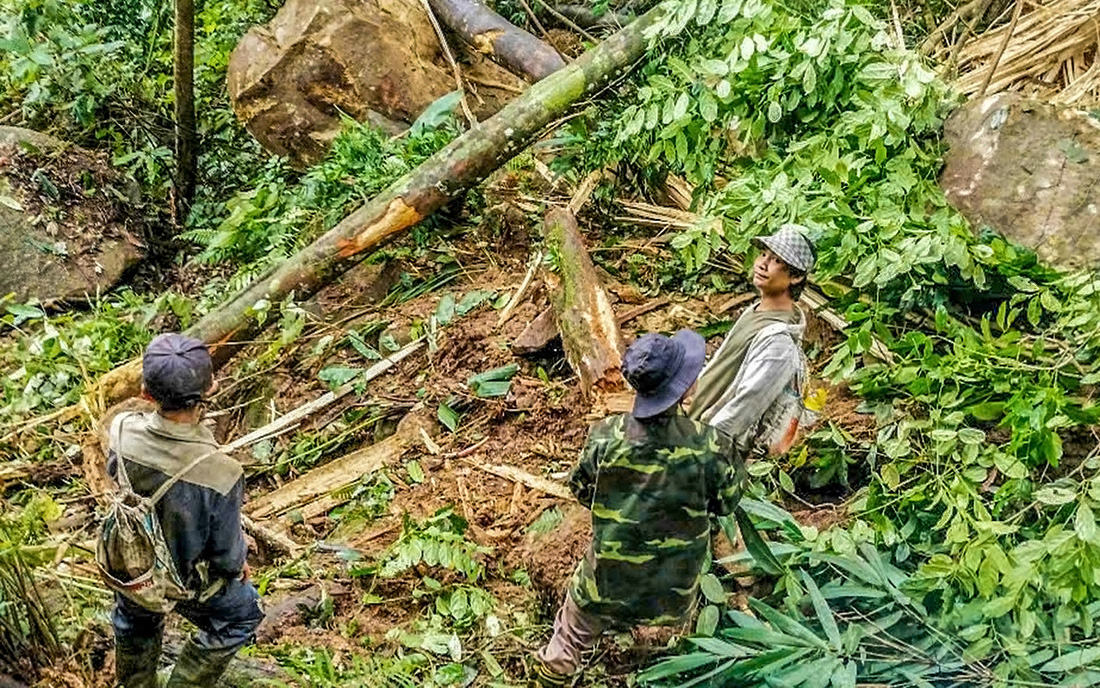
[[[167,411],[197,404],[212,380],[210,351],[193,337],[157,335],[142,357],[145,391]]]

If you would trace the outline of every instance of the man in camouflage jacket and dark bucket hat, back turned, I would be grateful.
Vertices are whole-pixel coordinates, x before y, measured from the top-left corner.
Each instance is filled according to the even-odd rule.
[[[681,411],[704,356],[682,330],[646,335],[623,359],[634,409],[592,427],[570,478],[593,539],[539,652],[543,685],[565,685],[604,629],[680,623],[694,605],[710,517],[734,510],[741,478],[729,440]]]

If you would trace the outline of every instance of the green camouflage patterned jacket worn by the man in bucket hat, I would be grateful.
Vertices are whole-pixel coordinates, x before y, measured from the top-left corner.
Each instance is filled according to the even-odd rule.
[[[592,510],[592,546],[570,583],[578,607],[618,624],[682,621],[710,553],[710,515],[737,505],[741,466],[722,433],[679,411],[594,425],[570,477]]]

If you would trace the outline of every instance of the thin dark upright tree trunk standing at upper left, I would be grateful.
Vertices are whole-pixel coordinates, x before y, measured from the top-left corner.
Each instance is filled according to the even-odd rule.
[[[176,0],[173,81],[176,89],[176,218],[183,223],[195,198],[198,170],[195,122],[195,0]]]

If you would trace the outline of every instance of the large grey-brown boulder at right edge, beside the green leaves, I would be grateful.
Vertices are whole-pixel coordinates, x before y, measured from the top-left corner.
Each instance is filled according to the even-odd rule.
[[[1100,264],[1100,123],[1086,112],[999,94],[947,120],[941,184],[988,226],[1065,269]]]

